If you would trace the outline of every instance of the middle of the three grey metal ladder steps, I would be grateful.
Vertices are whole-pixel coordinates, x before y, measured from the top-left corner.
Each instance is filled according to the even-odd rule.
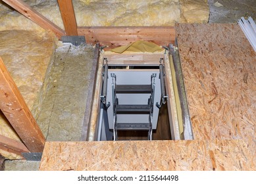
[[[116,114],[150,114],[149,104],[116,104]]]

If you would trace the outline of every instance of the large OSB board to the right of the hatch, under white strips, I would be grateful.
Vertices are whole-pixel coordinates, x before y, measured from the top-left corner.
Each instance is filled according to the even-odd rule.
[[[194,139],[255,139],[256,53],[237,24],[177,24]]]

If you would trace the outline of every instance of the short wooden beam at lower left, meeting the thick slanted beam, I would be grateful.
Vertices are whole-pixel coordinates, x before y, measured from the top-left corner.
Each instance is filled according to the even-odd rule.
[[[14,154],[18,154],[20,156],[22,156],[22,152],[30,152],[23,143],[3,135],[0,135],[0,149],[13,152]]]

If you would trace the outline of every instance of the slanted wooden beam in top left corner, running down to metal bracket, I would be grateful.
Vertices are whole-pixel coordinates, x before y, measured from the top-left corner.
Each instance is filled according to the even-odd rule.
[[[61,36],[66,35],[66,33],[59,28],[57,25],[53,24],[50,20],[45,18],[45,16],[39,14],[39,12],[32,9],[29,5],[24,3],[22,0],[3,0],[9,6],[13,7],[16,11],[20,12],[26,18],[29,18],[45,30],[51,30],[59,39]]]

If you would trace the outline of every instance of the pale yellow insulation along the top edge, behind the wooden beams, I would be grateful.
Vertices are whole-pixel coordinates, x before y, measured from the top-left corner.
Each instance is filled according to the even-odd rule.
[[[57,0],[27,0],[33,9],[64,29]],[[205,0],[73,0],[78,26],[174,26],[176,22],[207,22]],[[41,30],[34,22],[0,1],[0,30]]]

